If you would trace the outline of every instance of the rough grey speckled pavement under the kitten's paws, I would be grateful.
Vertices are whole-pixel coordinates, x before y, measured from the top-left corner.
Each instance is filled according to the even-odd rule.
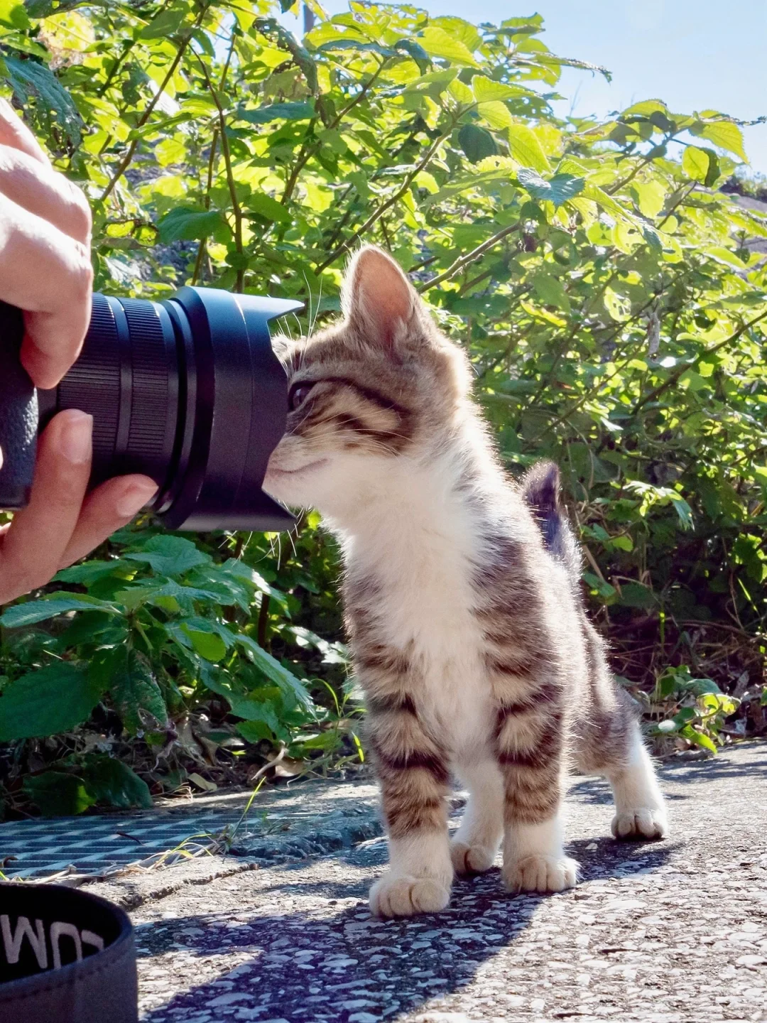
[[[145,1023],[767,1021],[767,744],[662,771],[674,834],[605,836],[600,782],[576,783],[584,881],[506,896],[497,870],[450,908],[379,922],[382,840],[221,877],[133,914]]]

